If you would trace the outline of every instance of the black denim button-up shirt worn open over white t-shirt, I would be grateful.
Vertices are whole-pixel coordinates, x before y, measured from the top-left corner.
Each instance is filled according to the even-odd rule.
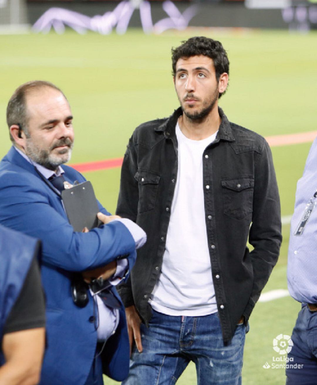
[[[148,325],[148,303],[159,279],[177,179],[175,126],[179,108],[169,118],[141,124],[123,159],[116,213],[147,233],[147,243],[119,293],[125,306],[135,305]],[[229,123],[221,125],[203,159],[205,221],[224,342],[236,323],[246,320],[277,262],[282,241],[280,200],[270,148],[263,137]],[[184,207],[184,210],[186,208]],[[250,227],[251,225],[251,227]],[[249,242],[253,250],[246,247]],[[199,255],[196,256],[199,263]]]

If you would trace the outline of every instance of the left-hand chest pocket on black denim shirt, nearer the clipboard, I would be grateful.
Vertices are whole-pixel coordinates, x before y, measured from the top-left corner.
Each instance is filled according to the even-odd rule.
[[[148,170],[138,170],[134,177],[139,183],[138,213],[152,210],[156,202],[160,175]]]

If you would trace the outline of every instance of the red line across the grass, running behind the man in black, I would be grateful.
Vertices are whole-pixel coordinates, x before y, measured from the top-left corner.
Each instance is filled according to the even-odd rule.
[[[287,146],[289,144],[299,144],[312,142],[317,136],[317,131],[309,131],[298,134],[274,135],[267,136],[270,147]],[[116,167],[121,167],[123,158],[106,159],[105,161],[86,162],[71,164],[79,172],[107,170]]]

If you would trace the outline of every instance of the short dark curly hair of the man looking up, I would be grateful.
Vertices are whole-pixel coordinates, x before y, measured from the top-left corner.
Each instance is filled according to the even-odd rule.
[[[220,75],[224,72],[229,75],[229,60],[227,52],[224,50],[221,42],[205,36],[195,36],[182,41],[182,45],[179,47],[172,48],[173,76],[176,74],[176,63],[180,58],[196,55],[208,56],[213,60],[217,82],[219,81]],[[224,94],[224,92],[222,94]],[[222,94],[219,94],[219,98]]]

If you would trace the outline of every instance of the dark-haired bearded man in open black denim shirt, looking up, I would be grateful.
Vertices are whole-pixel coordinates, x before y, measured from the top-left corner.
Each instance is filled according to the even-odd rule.
[[[137,127],[121,171],[117,214],[148,237],[119,288],[136,345],[124,384],[175,383],[190,361],[201,385],[238,384],[282,240],[275,171],[265,139],[218,107],[229,74],[221,43],[183,42],[172,68],[180,108]]]

